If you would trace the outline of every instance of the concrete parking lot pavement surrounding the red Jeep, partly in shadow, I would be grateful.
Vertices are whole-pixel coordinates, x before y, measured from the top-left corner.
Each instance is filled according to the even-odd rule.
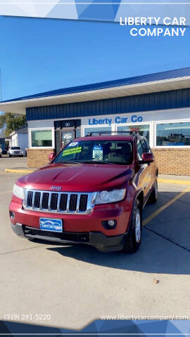
[[[17,237],[8,204],[19,176],[0,168],[0,319],[46,314],[25,323],[82,329],[103,315],[190,318],[190,177],[159,177],[141,249],[125,255]]]

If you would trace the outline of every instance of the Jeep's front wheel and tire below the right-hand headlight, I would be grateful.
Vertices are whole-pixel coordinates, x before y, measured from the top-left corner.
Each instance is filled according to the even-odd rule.
[[[141,245],[142,234],[142,208],[139,200],[134,202],[132,210],[131,223],[129,225],[129,232],[125,240],[123,251],[125,253],[135,253]]]

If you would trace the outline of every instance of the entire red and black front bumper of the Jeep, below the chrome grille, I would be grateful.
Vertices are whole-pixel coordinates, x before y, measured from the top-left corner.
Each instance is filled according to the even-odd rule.
[[[115,204],[96,205],[89,214],[42,213],[23,209],[22,200],[14,195],[9,210],[14,213],[11,218],[13,231],[28,239],[43,239],[61,244],[89,244],[99,251],[120,251],[127,235],[132,211],[131,199]],[[39,218],[55,218],[63,220],[63,233],[42,231]],[[103,221],[117,221],[113,229],[103,227]],[[20,224],[20,225],[19,225]],[[73,239],[74,237],[74,239]]]

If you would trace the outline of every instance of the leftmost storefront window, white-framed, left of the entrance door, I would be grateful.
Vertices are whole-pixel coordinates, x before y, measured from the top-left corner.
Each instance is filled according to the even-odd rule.
[[[52,147],[51,130],[31,131],[32,147]]]

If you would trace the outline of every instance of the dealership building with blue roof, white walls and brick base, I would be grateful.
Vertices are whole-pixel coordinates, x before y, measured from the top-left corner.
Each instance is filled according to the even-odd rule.
[[[6,100],[0,110],[26,114],[30,167],[91,131],[135,130],[160,173],[190,176],[190,67]]]

